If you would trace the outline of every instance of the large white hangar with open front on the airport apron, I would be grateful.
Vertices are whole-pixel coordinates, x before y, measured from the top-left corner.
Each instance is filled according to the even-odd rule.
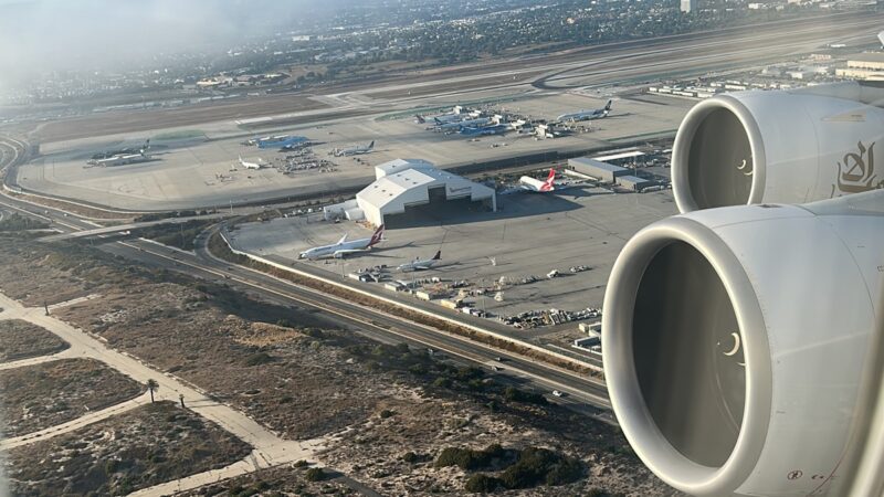
[[[425,160],[397,159],[381,163],[375,168],[375,182],[356,194],[356,200],[325,208],[325,218],[366,220],[379,226],[424,205],[439,211],[442,204],[466,202],[497,210],[493,188],[436,169]]]

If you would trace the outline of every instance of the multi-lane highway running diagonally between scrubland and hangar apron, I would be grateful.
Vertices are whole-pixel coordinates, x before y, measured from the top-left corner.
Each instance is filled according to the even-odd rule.
[[[95,223],[63,211],[36,207],[0,195],[0,208],[31,215],[50,222],[63,233],[92,230]],[[256,296],[263,300],[290,308],[319,311],[332,324],[352,330],[372,340],[387,343],[408,342],[414,347],[433,349],[462,363],[478,364],[503,382],[528,385],[537,391],[565,392],[562,398],[547,395],[552,402],[581,412],[600,421],[614,424],[610,402],[603,384],[571,371],[525,359],[518,355],[497,350],[414,324],[404,318],[385,314],[378,309],[360,306],[339,297],[322,294],[264,273],[229,264],[208,254],[204,244],[208,233],[198,239],[196,253],[183,252],[144,240],[103,243],[99,248],[129,261],[154,267],[164,267],[194,278],[224,283]],[[503,361],[498,361],[501,358]],[[494,367],[494,368],[492,368]]]

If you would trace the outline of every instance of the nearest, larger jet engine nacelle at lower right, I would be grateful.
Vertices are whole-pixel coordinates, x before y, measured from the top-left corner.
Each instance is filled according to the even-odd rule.
[[[825,494],[844,470],[882,283],[882,191],[639,232],[602,319],[609,394],[635,453],[692,495]]]

